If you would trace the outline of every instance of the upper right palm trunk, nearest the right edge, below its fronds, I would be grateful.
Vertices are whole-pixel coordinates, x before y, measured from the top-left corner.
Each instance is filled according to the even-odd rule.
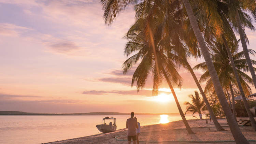
[[[241,39],[241,43],[242,43],[242,47],[243,47],[244,57],[246,59],[246,63],[249,67],[249,70],[251,72],[254,87],[256,89],[256,75],[255,75],[255,71],[254,71],[250,56],[248,54],[248,49],[247,49],[246,41],[245,41],[245,38],[244,38],[244,31],[243,31],[243,28],[242,28],[242,24],[241,24],[241,20],[240,20],[240,16],[239,16],[238,11],[237,11],[237,14],[236,14],[236,21],[237,21],[238,31],[239,31],[239,35],[240,35],[240,39]]]

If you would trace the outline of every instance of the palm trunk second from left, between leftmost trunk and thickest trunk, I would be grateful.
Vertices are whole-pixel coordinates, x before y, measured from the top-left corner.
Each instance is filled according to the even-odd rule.
[[[202,95],[202,97],[203,97],[203,100],[204,100],[204,102],[205,102],[205,105],[206,105],[206,107],[207,107],[207,109],[208,109],[210,115],[212,116],[212,121],[213,121],[213,123],[214,123],[214,125],[215,125],[217,131],[224,131],[225,129],[219,124],[218,120],[216,119],[216,117],[215,117],[215,115],[214,115],[214,113],[213,113],[213,111],[212,111],[211,105],[210,105],[210,103],[208,102],[207,97],[205,96],[204,91],[203,91],[201,85],[199,84],[199,82],[198,82],[198,80],[197,80],[197,77],[196,77],[196,75],[195,75],[193,69],[190,67],[190,65],[189,65],[189,63],[187,62],[187,60],[185,60],[185,63],[186,63],[186,66],[187,66],[189,72],[190,72],[191,75],[193,76],[194,81],[196,82],[196,85],[197,85],[197,87],[198,87],[198,89],[199,89],[199,91],[200,91],[200,93],[201,93],[201,95]]]

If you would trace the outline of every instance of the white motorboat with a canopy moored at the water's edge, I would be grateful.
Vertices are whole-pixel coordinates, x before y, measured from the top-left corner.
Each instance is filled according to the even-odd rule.
[[[113,123],[110,122],[109,124],[105,123],[105,120],[113,120]],[[105,117],[102,119],[101,125],[96,125],[96,128],[103,133],[113,132],[116,131],[116,118],[114,117]]]

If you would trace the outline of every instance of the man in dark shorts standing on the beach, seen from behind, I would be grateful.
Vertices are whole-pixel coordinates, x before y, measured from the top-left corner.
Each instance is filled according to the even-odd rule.
[[[131,112],[131,118],[126,120],[126,128],[127,130],[127,138],[128,138],[128,144],[131,144],[131,139],[132,143],[136,144],[136,128],[138,129],[138,122],[136,119],[133,118],[134,113]]]

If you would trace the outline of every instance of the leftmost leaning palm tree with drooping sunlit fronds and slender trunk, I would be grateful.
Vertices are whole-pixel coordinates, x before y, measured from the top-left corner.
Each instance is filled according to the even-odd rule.
[[[125,37],[126,39],[130,40],[126,44],[125,55],[129,56],[132,53],[136,54],[128,58],[123,63],[123,71],[124,74],[126,74],[134,65],[140,61],[140,64],[132,76],[131,85],[133,86],[136,83],[137,89],[139,91],[145,86],[148,76],[152,74],[153,96],[158,94],[158,88],[162,84],[162,81],[165,80],[171,89],[174,100],[188,133],[194,134],[188,125],[188,122],[174,91],[174,86],[179,88],[182,86],[182,78],[176,70],[177,66],[175,63],[177,63],[177,61],[175,58],[177,56],[170,53],[169,51],[165,51],[166,47],[170,46],[170,39],[162,39],[161,30],[162,27],[160,25],[157,28],[157,32],[154,34],[155,52],[153,46],[149,44],[149,40],[146,39],[140,30],[136,30],[136,27],[135,30],[129,30],[127,36]],[[172,57],[172,59],[170,57]],[[155,61],[155,59],[157,59],[157,61]],[[156,63],[158,63],[158,68],[156,67]]]

